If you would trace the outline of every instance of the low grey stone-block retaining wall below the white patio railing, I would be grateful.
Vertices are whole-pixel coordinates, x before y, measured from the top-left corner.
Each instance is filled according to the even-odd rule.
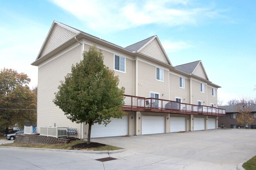
[[[33,144],[67,144],[69,141],[69,139],[24,134],[17,136],[14,142]]]

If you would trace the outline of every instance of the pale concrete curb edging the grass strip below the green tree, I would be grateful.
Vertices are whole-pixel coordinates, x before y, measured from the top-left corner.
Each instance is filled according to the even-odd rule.
[[[16,148],[16,149],[28,149],[28,150],[48,150],[56,152],[74,152],[74,153],[85,153],[85,154],[117,154],[125,152],[126,149],[119,150],[104,150],[104,151],[90,151],[90,150],[64,150],[64,149],[42,149],[42,148],[22,148],[22,147],[10,147],[10,146],[0,146],[0,148]]]

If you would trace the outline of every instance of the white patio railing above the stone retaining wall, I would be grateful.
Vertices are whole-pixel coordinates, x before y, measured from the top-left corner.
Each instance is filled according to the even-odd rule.
[[[40,127],[40,135],[50,137],[67,137],[67,127]]]

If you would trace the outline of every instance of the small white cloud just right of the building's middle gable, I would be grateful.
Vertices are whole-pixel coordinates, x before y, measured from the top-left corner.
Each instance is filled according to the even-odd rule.
[[[194,48],[194,46],[184,41],[171,42],[168,40],[164,40],[161,44],[166,52],[175,52],[182,49]]]

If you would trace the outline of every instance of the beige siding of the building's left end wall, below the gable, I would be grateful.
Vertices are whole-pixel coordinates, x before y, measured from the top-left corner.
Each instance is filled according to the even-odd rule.
[[[61,80],[71,72],[72,64],[80,62],[81,46],[70,49],[67,53],[38,68],[38,101],[37,101],[37,132],[41,126],[69,126],[77,129],[80,137],[80,124],[71,122],[66,115],[56,106],[52,99],[58,91]],[[46,60],[47,62],[47,60]]]

